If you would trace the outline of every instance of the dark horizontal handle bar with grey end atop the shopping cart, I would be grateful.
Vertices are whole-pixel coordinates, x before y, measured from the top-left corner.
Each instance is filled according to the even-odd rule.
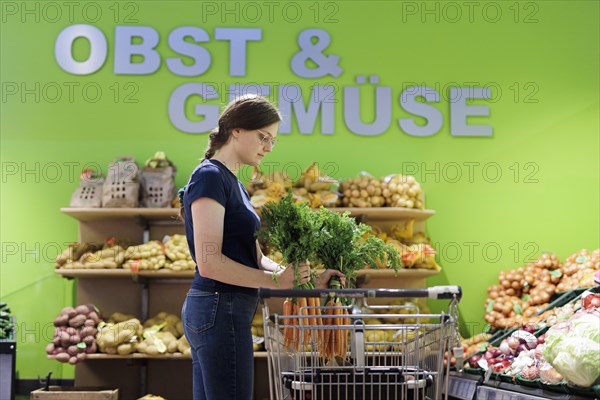
[[[268,289],[259,288],[258,297],[268,299],[271,297],[429,297],[430,299],[460,300],[462,290],[460,286],[433,286],[427,289]]]

